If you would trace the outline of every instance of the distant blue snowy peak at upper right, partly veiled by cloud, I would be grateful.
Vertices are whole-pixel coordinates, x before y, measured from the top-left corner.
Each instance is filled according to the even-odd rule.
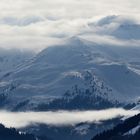
[[[110,35],[123,40],[140,39],[140,23],[133,18],[124,16],[107,16],[96,23],[89,23],[89,27],[94,28],[97,34]]]

